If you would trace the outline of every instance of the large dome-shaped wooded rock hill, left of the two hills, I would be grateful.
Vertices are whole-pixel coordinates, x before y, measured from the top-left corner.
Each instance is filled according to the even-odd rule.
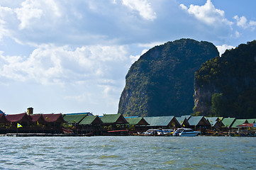
[[[218,55],[211,42],[191,39],[153,47],[130,67],[118,113],[126,116],[192,113],[194,72]]]

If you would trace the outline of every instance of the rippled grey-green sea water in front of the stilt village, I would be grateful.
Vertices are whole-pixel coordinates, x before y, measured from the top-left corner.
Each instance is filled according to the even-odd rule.
[[[256,137],[0,137],[0,169],[256,169]]]

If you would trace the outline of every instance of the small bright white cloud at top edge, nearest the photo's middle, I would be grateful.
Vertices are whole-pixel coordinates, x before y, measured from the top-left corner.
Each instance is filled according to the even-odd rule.
[[[134,11],[138,11],[140,16],[146,20],[153,21],[157,18],[156,13],[153,11],[151,4],[147,0],[122,0],[123,5],[128,6]]]

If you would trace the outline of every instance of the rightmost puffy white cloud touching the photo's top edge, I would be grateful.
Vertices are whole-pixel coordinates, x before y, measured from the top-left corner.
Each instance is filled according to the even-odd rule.
[[[204,6],[190,5],[187,8],[184,4],[180,4],[180,7],[209,26],[218,26],[219,24],[231,26],[233,24],[225,18],[224,11],[213,6],[211,0],[207,0]]]

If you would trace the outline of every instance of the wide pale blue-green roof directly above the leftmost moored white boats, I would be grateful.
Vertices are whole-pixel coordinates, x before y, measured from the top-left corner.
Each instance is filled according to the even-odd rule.
[[[150,126],[167,126],[173,118],[174,116],[144,117]]]

